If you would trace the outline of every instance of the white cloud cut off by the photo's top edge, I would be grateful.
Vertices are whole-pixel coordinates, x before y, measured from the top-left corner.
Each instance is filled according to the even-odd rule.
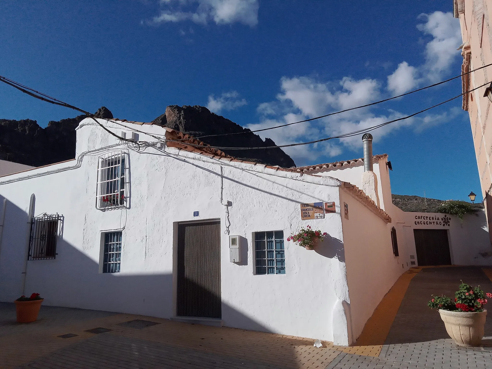
[[[197,24],[242,23],[254,27],[258,24],[258,0],[161,0],[163,9],[152,23],[182,22]]]

